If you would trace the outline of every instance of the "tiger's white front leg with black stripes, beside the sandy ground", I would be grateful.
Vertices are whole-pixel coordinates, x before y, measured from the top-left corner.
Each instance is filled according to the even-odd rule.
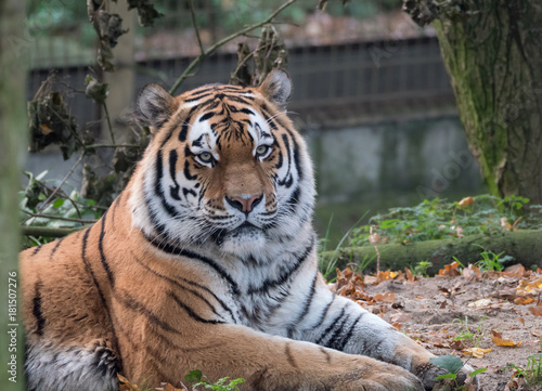
[[[319,277],[306,287],[307,300],[287,326],[289,338],[310,341],[345,353],[366,355],[416,375],[426,390],[447,372],[430,364],[434,354],[351,300],[336,296]],[[466,374],[461,374],[465,378]]]

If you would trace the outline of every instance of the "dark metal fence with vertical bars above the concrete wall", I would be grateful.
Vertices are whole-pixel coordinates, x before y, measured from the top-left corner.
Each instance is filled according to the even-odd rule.
[[[453,108],[453,91],[437,39],[423,37],[390,44],[382,40],[289,49],[288,71],[294,94],[288,109],[301,122],[332,127]],[[180,56],[137,62],[136,91],[147,82],[170,87],[192,60]],[[228,82],[235,66],[236,54],[217,53],[204,62],[194,77],[185,80],[181,90]],[[55,69],[60,80],[77,90],[83,89],[88,66]],[[29,96],[50,70],[31,71]],[[100,109],[82,94],[70,93],[70,108],[80,123],[100,119]]]

